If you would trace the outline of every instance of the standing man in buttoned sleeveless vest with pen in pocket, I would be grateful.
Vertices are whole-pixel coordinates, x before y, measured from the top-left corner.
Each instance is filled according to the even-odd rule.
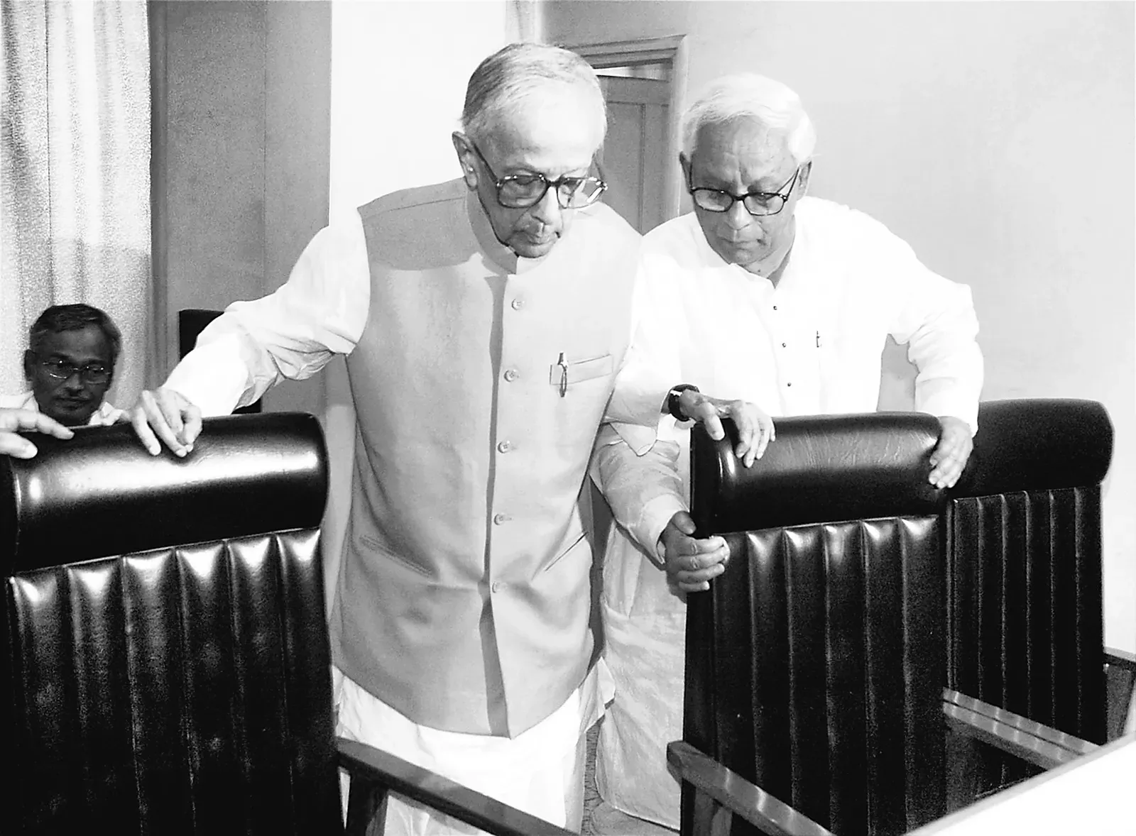
[[[667,396],[646,383],[612,398],[638,235],[595,202],[605,124],[578,56],[488,57],[453,134],[460,179],[320,231],[287,283],[229,306],[132,412],[151,452],[191,454],[202,415],[346,354],[358,430],[331,619],[337,732],[576,829],[583,734],[612,693],[577,498],[605,412],[653,425]],[[752,437],[749,404],[682,404]],[[393,799],[386,833],[476,830]]]

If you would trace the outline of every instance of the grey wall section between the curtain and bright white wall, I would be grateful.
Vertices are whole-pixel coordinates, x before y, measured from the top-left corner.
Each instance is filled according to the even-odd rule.
[[[154,316],[168,371],[178,310],[270,293],[327,223],[332,3],[170,0],[150,14]],[[266,400],[319,415],[323,378]]]

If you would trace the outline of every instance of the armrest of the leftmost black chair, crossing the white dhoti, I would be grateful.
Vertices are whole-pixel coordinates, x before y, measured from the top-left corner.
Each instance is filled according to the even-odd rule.
[[[340,766],[352,781],[361,779],[382,792],[393,791],[496,836],[574,836],[570,830],[474,792],[428,769],[368,746],[336,738]]]

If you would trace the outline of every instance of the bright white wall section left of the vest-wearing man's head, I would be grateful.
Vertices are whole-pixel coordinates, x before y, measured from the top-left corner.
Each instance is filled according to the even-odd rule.
[[[332,3],[331,217],[374,198],[459,175],[450,134],[466,82],[517,26],[504,0]],[[351,496],[354,410],[346,367],[326,371],[332,491],[324,520],[328,603]],[[391,393],[396,398],[398,393]]]

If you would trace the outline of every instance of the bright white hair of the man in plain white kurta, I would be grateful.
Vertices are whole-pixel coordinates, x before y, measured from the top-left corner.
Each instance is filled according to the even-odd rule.
[[[753,119],[765,129],[783,135],[796,165],[812,158],[817,132],[801,97],[757,73],[725,75],[702,89],[683,115],[683,152],[690,158],[703,126],[735,119]]]

